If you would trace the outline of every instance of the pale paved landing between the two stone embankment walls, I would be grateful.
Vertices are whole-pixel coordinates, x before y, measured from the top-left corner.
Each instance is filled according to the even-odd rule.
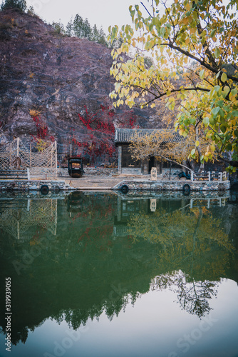
[[[130,178],[141,178],[142,180],[150,175],[118,175],[118,176],[95,176],[95,175],[83,175],[81,178],[69,178],[68,176],[62,176],[61,178],[66,181],[70,186],[78,188],[79,190],[110,190],[115,185],[123,180]]]

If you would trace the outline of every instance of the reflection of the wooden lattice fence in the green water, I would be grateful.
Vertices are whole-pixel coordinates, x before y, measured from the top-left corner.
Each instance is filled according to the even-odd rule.
[[[54,236],[57,228],[57,199],[1,199],[0,228],[14,238],[29,237],[32,226],[41,226]]]

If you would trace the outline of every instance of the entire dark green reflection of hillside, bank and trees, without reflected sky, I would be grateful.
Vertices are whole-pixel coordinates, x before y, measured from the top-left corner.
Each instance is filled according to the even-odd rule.
[[[81,192],[1,198],[12,343],[25,342],[47,318],[74,329],[103,311],[112,319],[155,289],[174,291],[182,309],[205,316],[220,279],[237,281],[238,213],[228,200]],[[2,316],[0,325],[5,331]]]

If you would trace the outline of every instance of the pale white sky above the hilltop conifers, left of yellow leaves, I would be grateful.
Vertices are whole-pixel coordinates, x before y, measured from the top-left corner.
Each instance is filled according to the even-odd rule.
[[[128,8],[140,4],[140,0],[26,0],[26,3],[33,6],[36,14],[50,24],[61,19],[66,26],[71,16],[74,18],[78,14],[83,19],[88,18],[91,26],[103,26],[107,34],[110,25],[132,24]]]

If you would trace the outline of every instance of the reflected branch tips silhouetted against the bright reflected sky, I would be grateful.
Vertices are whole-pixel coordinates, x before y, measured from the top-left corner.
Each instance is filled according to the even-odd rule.
[[[166,288],[177,294],[177,301],[183,310],[200,318],[211,310],[208,300],[212,296],[217,296],[217,282],[195,281],[194,278],[191,281],[190,276],[182,271],[173,271],[172,274],[155,277],[152,290]]]

